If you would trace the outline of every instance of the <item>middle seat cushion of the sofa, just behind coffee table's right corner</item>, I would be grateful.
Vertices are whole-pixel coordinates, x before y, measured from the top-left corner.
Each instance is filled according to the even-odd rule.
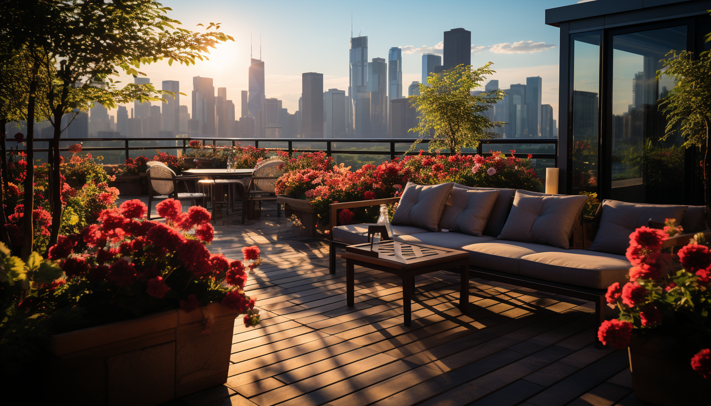
[[[494,271],[518,274],[518,259],[539,252],[565,252],[562,248],[535,242],[493,240],[479,244],[464,245],[461,250],[469,252],[469,265]]]

